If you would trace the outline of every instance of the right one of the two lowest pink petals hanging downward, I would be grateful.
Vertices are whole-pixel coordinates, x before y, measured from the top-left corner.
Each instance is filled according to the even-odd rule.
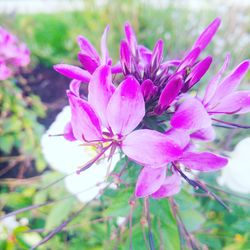
[[[173,196],[181,190],[181,177],[177,172],[171,176],[167,176],[162,186],[154,192],[151,197],[154,199],[161,199],[164,197]]]

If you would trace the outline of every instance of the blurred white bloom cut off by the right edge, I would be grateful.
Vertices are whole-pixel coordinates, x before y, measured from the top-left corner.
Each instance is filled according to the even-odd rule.
[[[218,183],[236,192],[250,193],[250,137],[240,141],[230,156]]]

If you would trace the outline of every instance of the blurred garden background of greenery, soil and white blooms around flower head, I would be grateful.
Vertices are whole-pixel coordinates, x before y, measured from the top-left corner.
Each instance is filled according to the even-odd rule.
[[[69,119],[65,108],[69,79],[55,72],[52,66],[79,65],[77,36],[84,35],[99,50],[101,34],[109,24],[108,48],[117,61],[119,43],[124,37],[123,25],[129,21],[139,43],[153,49],[157,39],[162,38],[165,57],[181,58],[217,16],[221,17],[222,25],[203,54],[211,54],[214,61],[199,85],[200,92],[220,68],[227,52],[231,53],[229,69],[250,58],[250,1],[0,0],[1,27],[24,42],[31,54],[28,66],[0,83],[0,216],[46,203],[1,220],[0,249],[30,249],[101,190],[98,183],[104,180],[103,173],[94,178],[94,190],[84,195],[79,193],[90,187],[86,178],[80,181],[64,178],[50,185],[87,157],[81,155],[76,159],[78,151],[71,152],[72,147],[64,144],[62,138],[48,136],[62,133]],[[249,87],[248,74],[241,88]],[[250,124],[249,115],[230,119]],[[207,197],[193,195],[188,187],[177,200],[185,204],[183,220],[201,242],[201,249],[247,250],[250,249],[250,142],[249,138],[241,141],[250,133],[220,128],[217,133],[217,140],[206,147],[217,147],[231,155],[232,170],[202,178],[217,188],[215,191],[231,205],[232,212]],[[127,178],[133,174],[127,173]],[[89,173],[89,178],[93,175],[96,173]],[[126,185],[118,190],[109,189],[39,249],[129,249],[127,215],[132,192],[133,188]],[[54,202],[47,204],[51,201]],[[139,208],[140,204],[133,214],[136,250],[148,249]],[[153,203],[152,213],[165,221],[161,226],[159,220],[154,225],[157,249],[180,249],[181,239],[168,205],[164,201]]]

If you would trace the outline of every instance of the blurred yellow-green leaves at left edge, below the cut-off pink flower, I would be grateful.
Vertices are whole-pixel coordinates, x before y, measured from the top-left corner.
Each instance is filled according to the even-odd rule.
[[[45,108],[39,97],[24,96],[14,80],[5,80],[1,82],[0,103],[0,150],[10,160],[15,156],[21,161],[35,160],[42,171],[46,166],[40,146],[44,129],[37,118],[45,116]],[[17,152],[13,153],[14,149]],[[4,155],[1,162],[5,162]]]

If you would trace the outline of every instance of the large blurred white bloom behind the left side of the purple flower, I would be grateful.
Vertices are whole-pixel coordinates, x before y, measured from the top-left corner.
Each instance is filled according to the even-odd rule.
[[[70,142],[62,136],[49,136],[63,133],[64,126],[70,120],[70,116],[70,107],[64,107],[43,135],[41,141],[44,157],[51,168],[65,174],[76,171],[96,155],[94,149],[80,146],[81,142],[79,141]],[[72,174],[65,179],[68,191],[76,194],[81,202],[85,203],[92,200],[107,185],[105,182],[106,175],[114,169],[119,160],[119,156],[114,155],[112,160],[108,162],[108,153],[105,154],[105,158],[101,158],[86,171],[79,175]]]

